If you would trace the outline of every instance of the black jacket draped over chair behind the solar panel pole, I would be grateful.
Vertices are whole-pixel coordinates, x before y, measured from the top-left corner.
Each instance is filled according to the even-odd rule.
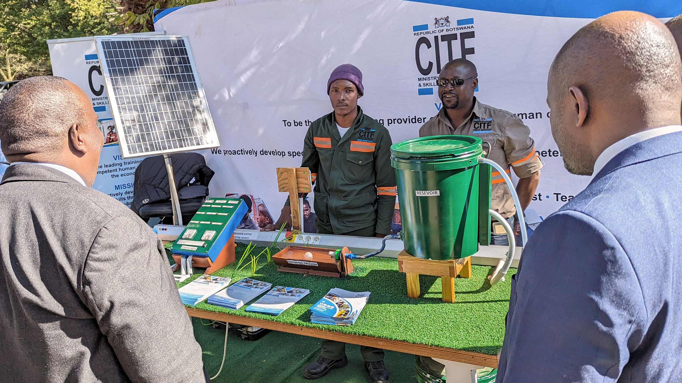
[[[209,195],[208,185],[215,172],[198,153],[176,153],[170,159],[180,210],[183,217],[191,217]],[[138,165],[133,190],[131,209],[143,219],[173,215],[168,172],[162,155],[147,157]]]

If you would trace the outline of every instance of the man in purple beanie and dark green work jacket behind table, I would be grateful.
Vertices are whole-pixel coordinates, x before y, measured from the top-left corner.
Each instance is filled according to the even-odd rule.
[[[315,120],[303,140],[301,167],[310,168],[315,183],[315,227],[321,234],[383,237],[391,233],[396,205],[391,136],[357,106],[364,90],[357,67],[336,67],[327,81],[333,112]],[[288,200],[280,219],[261,230],[278,230],[284,223],[291,227]],[[323,339],[321,356],[306,366],[303,376],[317,379],[345,367],[345,348],[346,343]],[[370,381],[388,383],[383,350],[361,346],[360,352]]]

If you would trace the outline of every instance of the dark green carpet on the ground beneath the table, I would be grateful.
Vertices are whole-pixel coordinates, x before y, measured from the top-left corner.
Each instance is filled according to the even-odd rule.
[[[210,320],[203,320],[210,323]],[[209,376],[216,375],[222,360],[225,331],[203,326],[199,318],[192,318],[194,337],[203,350],[203,360]],[[320,355],[321,339],[272,331],[257,341],[245,341],[237,335],[227,338],[225,365],[214,383],[309,383],[303,378],[303,367]],[[367,373],[360,355],[360,346],[346,346],[349,363],[333,369],[319,383],[366,383]],[[386,351],[384,359],[391,373],[391,382],[416,383],[415,356]]]

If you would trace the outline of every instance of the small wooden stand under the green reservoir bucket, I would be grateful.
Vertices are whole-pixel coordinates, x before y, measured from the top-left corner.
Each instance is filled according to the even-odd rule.
[[[443,285],[443,302],[455,301],[455,278],[471,277],[471,257],[458,260],[425,260],[400,251],[398,254],[398,271],[405,273],[407,279],[407,296],[419,298],[419,275],[435,275],[441,277]]]

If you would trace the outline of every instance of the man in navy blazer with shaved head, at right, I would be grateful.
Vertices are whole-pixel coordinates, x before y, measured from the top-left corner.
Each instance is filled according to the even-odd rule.
[[[681,78],[670,31],[638,12],[557,54],[552,135],[594,177],[523,251],[498,383],[682,382]]]

